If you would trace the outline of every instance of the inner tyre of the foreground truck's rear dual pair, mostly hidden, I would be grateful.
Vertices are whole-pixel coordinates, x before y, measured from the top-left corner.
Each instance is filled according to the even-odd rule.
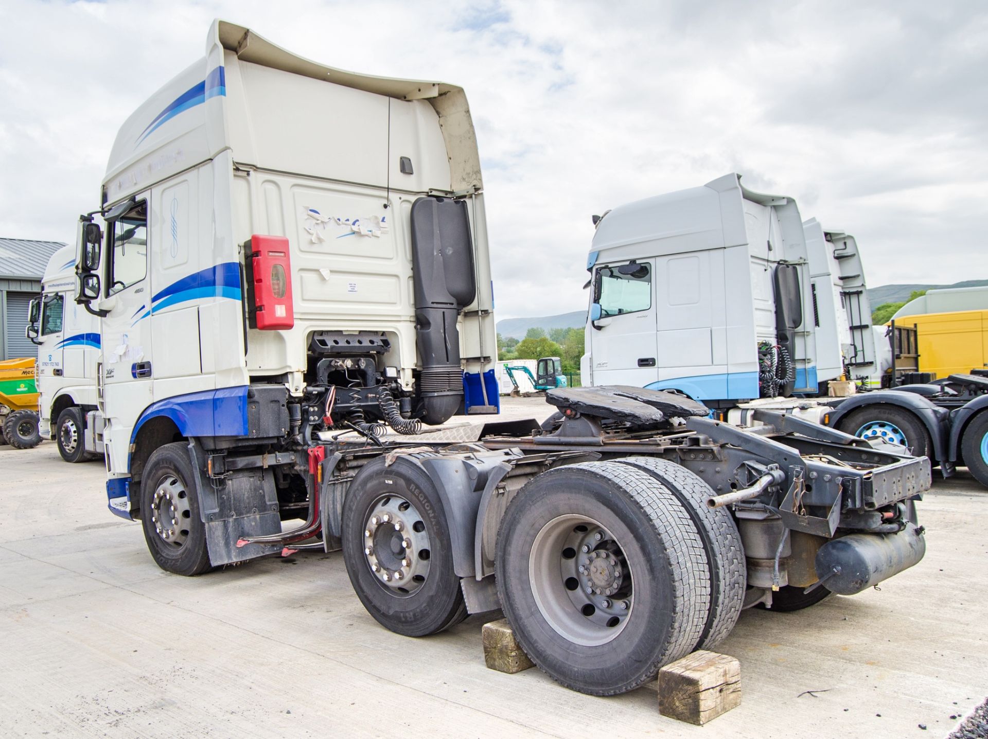
[[[748,567],[734,517],[726,508],[706,505],[706,499],[714,494],[712,488],[682,464],[654,456],[628,456],[617,461],[643,469],[665,485],[697,527],[706,549],[710,577],[710,615],[698,648],[709,649],[731,632],[744,608]]]

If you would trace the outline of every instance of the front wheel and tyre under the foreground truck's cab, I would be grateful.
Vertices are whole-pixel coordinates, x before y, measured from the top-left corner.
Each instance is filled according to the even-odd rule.
[[[147,548],[161,569],[176,575],[200,575],[210,567],[196,474],[189,447],[175,442],[151,452],[140,480]]]

